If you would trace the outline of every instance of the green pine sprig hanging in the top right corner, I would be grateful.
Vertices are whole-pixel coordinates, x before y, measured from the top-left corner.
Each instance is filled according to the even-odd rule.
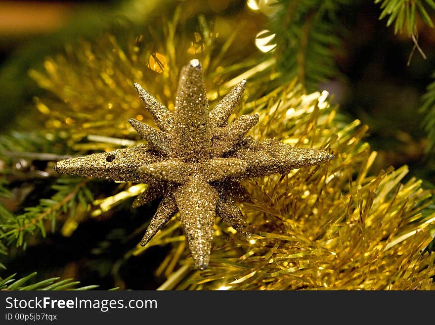
[[[406,31],[409,37],[415,37],[418,34],[417,11],[425,24],[434,27],[424,4],[435,9],[434,0],[375,0],[375,3],[381,3],[383,9],[379,19],[388,17],[387,27],[394,23],[394,34]]]

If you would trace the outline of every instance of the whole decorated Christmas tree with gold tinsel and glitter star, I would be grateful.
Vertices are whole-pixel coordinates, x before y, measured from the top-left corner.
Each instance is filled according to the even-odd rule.
[[[434,289],[432,0],[115,2],[3,60],[1,288]]]

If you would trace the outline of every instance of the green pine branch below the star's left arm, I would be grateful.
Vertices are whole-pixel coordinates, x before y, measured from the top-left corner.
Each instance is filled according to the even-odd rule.
[[[80,178],[60,178],[51,186],[57,192],[50,199],[41,199],[35,207],[25,208],[19,216],[7,217],[0,225],[3,230],[0,238],[6,239],[7,245],[16,242],[17,246],[27,246],[27,239],[36,232],[46,235],[47,222],[51,222],[51,231],[56,228],[56,221],[61,214],[74,215],[81,205],[87,209],[93,201],[92,193],[87,188],[87,180]]]

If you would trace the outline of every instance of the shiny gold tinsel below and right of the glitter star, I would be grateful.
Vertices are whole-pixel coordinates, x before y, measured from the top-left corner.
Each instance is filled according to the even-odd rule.
[[[247,241],[220,223],[206,271],[192,270],[175,219],[148,246],[175,242],[157,270],[167,277],[160,289],[435,288],[435,253],[423,252],[435,220],[422,214],[430,191],[415,178],[401,183],[406,166],[370,175],[376,152],[361,141],[367,127],[339,122],[325,96],[292,84],[245,105],[261,116],[255,136],[331,148],[336,158],[247,182],[253,201],[241,209],[258,237]]]

